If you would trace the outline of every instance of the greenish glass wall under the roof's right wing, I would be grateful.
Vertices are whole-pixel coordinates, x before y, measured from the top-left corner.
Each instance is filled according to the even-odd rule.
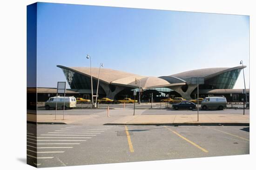
[[[210,78],[204,82],[201,89],[231,89],[235,86],[240,71],[241,69],[235,69]]]

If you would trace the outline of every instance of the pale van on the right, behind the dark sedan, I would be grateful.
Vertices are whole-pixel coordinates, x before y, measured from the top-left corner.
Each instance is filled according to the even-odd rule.
[[[223,110],[227,107],[227,99],[224,96],[210,96],[204,98],[201,102],[202,109],[206,110],[207,108],[217,108]]]

